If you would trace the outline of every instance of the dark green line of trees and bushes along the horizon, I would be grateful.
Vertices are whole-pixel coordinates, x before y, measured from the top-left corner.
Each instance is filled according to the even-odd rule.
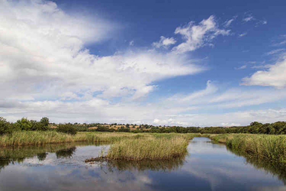
[[[278,121],[275,123],[259,123],[252,122],[248,126],[232,126],[232,127],[182,127],[182,126],[153,126],[148,124],[110,124],[109,127],[106,124],[102,125],[100,123],[91,123],[78,125],[78,123],[67,123],[58,124],[57,128],[49,128],[49,118],[43,117],[40,121],[28,120],[27,118],[21,118],[16,122],[8,122],[5,118],[0,117],[0,135],[9,134],[13,131],[24,130],[24,131],[46,131],[46,130],[56,130],[58,132],[65,132],[75,135],[76,132],[150,132],[150,133],[210,133],[210,134],[224,134],[224,133],[252,133],[252,134],[269,134],[269,135],[281,135],[286,134],[286,122]],[[55,124],[54,124],[55,125]],[[112,128],[114,125],[121,125],[120,128]],[[95,129],[89,129],[89,127],[95,126]],[[131,131],[131,127],[135,127],[136,130]]]

